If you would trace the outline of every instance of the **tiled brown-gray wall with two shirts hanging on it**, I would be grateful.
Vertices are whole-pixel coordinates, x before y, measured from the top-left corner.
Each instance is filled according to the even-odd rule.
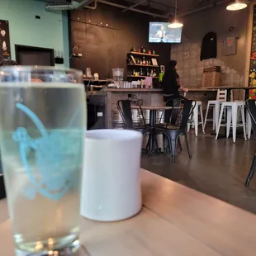
[[[221,83],[230,86],[244,86],[245,45],[249,8],[229,12],[225,4],[183,17],[183,43],[172,47],[172,59],[178,60],[181,82],[187,87],[200,87],[202,70],[220,65]],[[222,55],[222,40],[234,26],[239,36],[237,55]],[[200,61],[201,40],[207,32],[217,34],[217,58]]]

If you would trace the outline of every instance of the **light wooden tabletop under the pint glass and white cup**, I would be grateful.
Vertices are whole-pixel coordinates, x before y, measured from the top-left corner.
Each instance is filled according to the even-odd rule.
[[[141,171],[143,209],[129,219],[82,218],[79,256],[249,256],[256,254],[256,216]],[[131,188],[132,189],[132,188]],[[7,202],[0,201],[0,255],[13,255]]]

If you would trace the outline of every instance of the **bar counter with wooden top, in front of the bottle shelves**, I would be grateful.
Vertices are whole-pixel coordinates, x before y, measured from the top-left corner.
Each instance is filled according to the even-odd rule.
[[[164,105],[163,89],[141,89],[141,88],[104,88],[107,96],[107,128],[113,128],[113,120],[120,119],[116,108],[116,102],[127,99],[128,94],[133,94],[143,101],[143,105],[159,106]],[[209,100],[216,99],[216,89],[191,88],[187,92],[190,99],[201,101],[203,108]]]

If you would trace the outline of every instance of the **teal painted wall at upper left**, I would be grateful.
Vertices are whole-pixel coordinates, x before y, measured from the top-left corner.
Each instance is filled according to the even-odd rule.
[[[45,2],[33,0],[0,0],[0,6],[0,19],[9,21],[12,59],[16,59],[14,45],[45,47],[62,50],[64,66],[69,67],[66,12],[46,12]]]

